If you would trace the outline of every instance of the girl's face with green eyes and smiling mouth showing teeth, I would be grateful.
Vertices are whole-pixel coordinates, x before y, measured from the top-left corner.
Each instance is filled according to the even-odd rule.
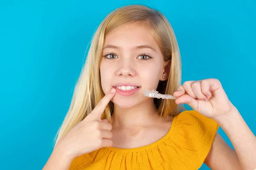
[[[166,63],[150,28],[136,23],[119,26],[105,37],[102,54],[101,85],[105,94],[116,88],[114,105],[133,108],[153,100],[143,90],[157,89]]]

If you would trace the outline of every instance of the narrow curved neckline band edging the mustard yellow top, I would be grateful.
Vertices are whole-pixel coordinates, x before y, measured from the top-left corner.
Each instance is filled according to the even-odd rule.
[[[176,122],[177,122],[177,116],[175,116],[173,118],[172,125],[171,125],[168,133],[166,133],[166,135],[163,136],[161,139],[159,139],[156,142],[153,142],[151,144],[148,144],[148,145],[145,145],[145,146],[142,146],[142,147],[135,147],[135,148],[104,147],[102,149],[110,150],[110,151],[113,151],[113,152],[119,152],[119,153],[139,152],[139,151],[151,149],[153,147],[156,147],[158,144],[166,141],[167,139],[171,138],[171,136],[174,132]]]

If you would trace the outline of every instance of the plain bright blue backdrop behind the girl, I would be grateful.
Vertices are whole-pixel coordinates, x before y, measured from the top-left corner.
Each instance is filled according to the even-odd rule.
[[[180,47],[182,82],[219,79],[256,134],[256,1],[2,0],[1,169],[42,169],[93,32],[109,12],[130,4],[156,8],[168,18]],[[232,146],[224,131],[219,133]]]

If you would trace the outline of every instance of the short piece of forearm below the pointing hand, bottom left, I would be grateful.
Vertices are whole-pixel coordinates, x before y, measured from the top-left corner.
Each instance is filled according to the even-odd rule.
[[[64,153],[61,148],[55,147],[43,170],[68,170],[73,159],[72,156]]]

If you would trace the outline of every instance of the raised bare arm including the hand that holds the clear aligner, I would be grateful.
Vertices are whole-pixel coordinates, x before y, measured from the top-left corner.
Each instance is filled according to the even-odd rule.
[[[175,99],[177,105],[187,104],[195,111],[215,120],[221,126],[236,150],[242,169],[256,169],[256,137],[244,122],[239,111],[228,99],[218,79],[186,81],[179,86],[173,95],[177,98]],[[221,139],[219,140],[221,141]],[[209,153],[211,159],[208,158],[207,161],[210,161],[208,164],[219,167],[218,162],[211,160],[219,160],[218,157],[226,157],[225,154],[227,154],[227,157],[233,157],[234,153],[227,146],[225,147],[225,144],[217,141],[216,139],[214,142],[215,147],[212,147],[212,154]],[[220,146],[224,147],[225,151],[230,151],[225,153],[225,151],[220,150],[221,148],[218,148]],[[232,163],[230,162],[230,164]]]

